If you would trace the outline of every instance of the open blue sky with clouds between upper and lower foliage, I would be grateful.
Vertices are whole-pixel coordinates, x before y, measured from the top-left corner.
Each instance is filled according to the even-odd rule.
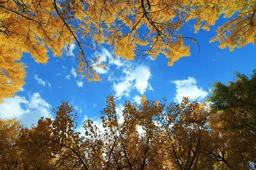
[[[76,108],[78,124],[84,118],[93,118],[99,123],[100,111],[109,94],[116,97],[118,113],[126,100],[140,104],[142,94],[150,100],[167,97],[168,102],[180,102],[182,96],[188,96],[202,101],[214,81],[226,83],[234,80],[234,71],[250,74],[255,69],[255,46],[247,45],[234,52],[221,50],[218,42],[209,43],[215,35],[214,29],[216,26],[209,32],[201,30],[197,34],[184,31],[185,36],[198,40],[200,53],[197,55],[197,46],[191,46],[191,56],[178,60],[172,67],[167,66],[168,59],[163,55],[156,60],[148,56],[140,61],[127,61],[115,58],[109,46],[85,51],[91,58],[101,56],[101,62],[106,63],[106,68],[97,70],[102,78],[100,82],[88,82],[77,76],[76,46],[71,46],[72,51],[63,59],[50,54],[46,65],[35,63],[26,53],[22,58],[28,65],[26,85],[17,96],[5,99],[6,103],[0,105],[0,117],[17,117],[29,126],[42,116],[54,118],[52,108],[64,100]]]

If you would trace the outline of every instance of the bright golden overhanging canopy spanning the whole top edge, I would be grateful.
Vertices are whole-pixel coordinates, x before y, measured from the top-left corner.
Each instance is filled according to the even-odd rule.
[[[86,55],[86,48],[107,44],[115,56],[134,57],[163,53],[168,65],[190,55],[180,34],[192,25],[209,31],[221,16],[230,18],[221,25],[211,41],[220,48],[241,48],[255,43],[255,1],[152,1],[152,0],[15,0],[0,1],[0,99],[12,97],[22,85],[26,71],[20,62],[30,53],[38,63],[46,64],[49,52],[65,57],[65,47],[74,43],[77,71],[88,80],[100,80],[95,67],[104,67]],[[234,16],[234,17],[233,17]],[[193,22],[194,23],[194,22]]]

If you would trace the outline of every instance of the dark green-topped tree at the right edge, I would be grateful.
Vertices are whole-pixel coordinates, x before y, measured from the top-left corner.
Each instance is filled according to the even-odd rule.
[[[234,169],[248,167],[246,162],[256,162],[255,80],[255,70],[251,76],[236,73],[236,80],[228,85],[214,83],[209,97],[214,108],[210,124],[220,141],[224,141],[225,145],[219,146],[228,150],[226,159],[230,159],[229,166]]]

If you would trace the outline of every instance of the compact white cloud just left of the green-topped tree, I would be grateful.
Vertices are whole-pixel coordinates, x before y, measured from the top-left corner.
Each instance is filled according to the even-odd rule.
[[[176,85],[175,101],[182,102],[183,97],[189,97],[191,100],[204,99],[207,96],[207,92],[200,87],[196,86],[196,79],[188,77],[187,80],[175,80],[171,81]]]

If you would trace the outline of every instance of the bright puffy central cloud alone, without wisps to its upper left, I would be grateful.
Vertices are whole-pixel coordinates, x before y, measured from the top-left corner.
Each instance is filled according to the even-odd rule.
[[[151,78],[148,66],[137,66],[135,69],[131,66],[124,69],[125,76],[118,83],[113,83],[115,97],[120,99],[122,96],[129,96],[132,89],[138,90],[143,94],[147,89],[153,90],[148,80]]]

